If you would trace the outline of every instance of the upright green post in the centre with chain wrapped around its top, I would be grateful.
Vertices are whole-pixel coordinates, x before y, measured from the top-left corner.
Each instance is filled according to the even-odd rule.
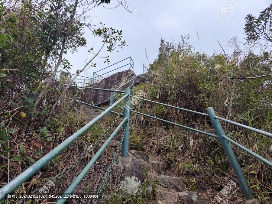
[[[125,88],[125,94],[128,94],[130,96],[130,88]],[[124,99],[124,104],[127,101],[128,97]],[[128,126],[126,130],[125,130],[126,125],[125,124],[123,125],[123,131],[125,130],[125,135],[122,142],[122,156],[123,157],[128,156],[129,114],[130,114],[130,101],[128,102],[127,106],[124,108],[124,115],[123,115],[123,118],[128,117]]]

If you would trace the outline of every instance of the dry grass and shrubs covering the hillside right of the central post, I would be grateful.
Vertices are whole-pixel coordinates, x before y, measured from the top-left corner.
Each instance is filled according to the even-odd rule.
[[[161,40],[158,57],[149,68],[160,75],[138,89],[153,101],[203,113],[212,107],[222,118],[271,132],[271,20],[272,5],[258,18],[248,15],[245,49],[240,49],[241,42],[233,37],[228,43],[234,49],[232,54],[223,48],[222,53],[212,56],[193,52],[189,35],[181,36],[178,43]],[[209,118],[201,115],[150,102],[141,102],[137,108],[138,112],[216,134]],[[219,192],[230,180],[237,181],[218,139],[141,115],[133,114],[131,121],[131,147],[160,154],[167,161],[169,174],[186,176],[186,189]],[[221,125],[229,138],[271,161],[271,138],[225,122]],[[272,203],[271,167],[231,146],[255,198]],[[239,189],[230,201],[242,199]]]

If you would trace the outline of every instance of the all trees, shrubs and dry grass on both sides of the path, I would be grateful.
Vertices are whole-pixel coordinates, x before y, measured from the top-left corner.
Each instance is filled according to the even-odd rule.
[[[89,5],[95,7],[109,2],[91,1]],[[103,24],[98,29],[83,24],[80,17],[84,15],[77,14],[73,5],[72,2],[67,5],[58,1],[57,5],[49,4],[44,8],[39,2],[0,2],[0,187],[84,125],[84,120],[75,116],[79,105],[71,105],[65,99],[65,90],[60,89],[59,83],[51,83],[50,78],[55,77],[54,70],[58,70],[60,65],[66,70],[72,66],[68,60],[62,59],[62,53],[74,52],[79,46],[86,46],[83,26],[89,26],[96,37],[102,37],[104,44],[109,45],[108,51],[125,45],[125,41],[121,40],[121,31],[105,28]],[[87,5],[79,6],[86,8],[84,6]],[[38,17],[33,17],[36,12]],[[208,107],[213,107],[220,117],[271,132],[271,13],[272,5],[262,11],[258,18],[252,15],[246,17],[245,48],[242,50],[241,42],[233,37],[228,44],[234,50],[232,54],[224,50],[212,56],[193,52],[189,35],[181,36],[178,43],[161,40],[158,57],[149,67],[151,72],[159,75],[154,77],[154,82],[139,85],[136,89],[143,90],[145,98],[150,100],[203,113]],[[258,46],[258,50],[255,46]],[[92,50],[89,49],[90,52]],[[109,61],[108,56],[105,61]],[[95,64],[90,63],[90,66]],[[72,81],[73,78],[64,76],[60,80]],[[57,108],[51,112],[50,118],[48,116],[53,105]],[[204,116],[150,102],[140,102],[133,108],[216,134],[209,118]],[[86,147],[112,121],[108,117],[103,124],[90,128],[31,177],[26,182],[28,186],[22,185],[16,191],[31,192],[60,173],[86,151]],[[271,161],[270,138],[228,123],[221,125],[229,138]],[[215,138],[132,113],[130,141],[130,149],[159,154],[166,161],[166,174],[185,177],[186,190],[215,196],[230,180],[238,183],[222,144]],[[263,203],[272,203],[271,167],[235,145],[232,145],[232,149],[256,198]],[[81,188],[87,192],[97,189],[105,173],[103,167],[108,166],[111,160],[108,154],[112,154],[111,149],[103,153],[102,159],[92,167],[91,171],[95,173],[86,177],[93,180],[95,185],[89,188],[91,183],[83,182]],[[82,166],[92,156],[88,154],[88,160],[84,160]],[[76,170],[70,171],[58,183],[61,192],[70,184],[67,178],[74,178],[76,173]],[[111,175],[109,180],[117,179]],[[109,192],[113,191],[107,188]],[[112,197],[108,202],[120,203],[125,199],[117,197]],[[230,200],[242,203],[242,190],[238,189]],[[130,198],[124,202],[147,201]]]

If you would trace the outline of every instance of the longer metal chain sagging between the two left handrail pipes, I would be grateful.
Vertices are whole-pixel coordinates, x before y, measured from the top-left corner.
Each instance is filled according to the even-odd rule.
[[[121,111],[118,113],[118,115],[116,116],[116,118],[114,119],[114,121],[112,122],[112,124],[108,127],[108,129],[104,132],[104,134],[102,134],[102,136],[100,138],[98,138],[98,140],[94,143],[94,144],[91,144],[89,147],[88,147],[88,151],[84,152],[80,157],[78,157],[76,159],[75,162],[73,162],[69,167],[66,167],[61,173],[57,174],[57,176],[55,176],[53,179],[52,179],[52,182],[54,183],[56,180],[59,180],[65,173],[68,173],[71,169],[73,169],[79,162],[81,162],[89,152],[91,152],[96,146],[97,144],[99,144],[99,142],[105,137],[105,135],[112,129],[113,125],[115,125],[116,121],[120,118],[120,115],[121,113],[123,112],[124,108],[126,107],[126,105],[128,104],[129,102],[129,98],[130,96],[128,96],[128,99],[125,103],[125,105],[122,107]],[[40,187],[40,186],[39,186]],[[35,189],[32,193],[36,193],[37,191],[39,191],[41,189],[40,188],[37,188]],[[21,200],[19,200],[19,204],[22,204],[24,201],[28,201],[30,200],[30,198],[23,198]]]

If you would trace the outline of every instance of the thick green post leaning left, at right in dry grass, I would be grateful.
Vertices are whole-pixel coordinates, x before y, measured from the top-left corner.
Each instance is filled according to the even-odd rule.
[[[228,156],[228,159],[232,165],[232,168],[235,172],[236,178],[238,179],[238,182],[244,192],[244,196],[246,197],[247,200],[249,200],[251,197],[250,187],[249,187],[248,182],[244,177],[244,173],[242,172],[241,167],[239,166],[238,161],[232,151],[232,147],[230,146],[228,141],[225,138],[223,138],[223,136],[226,136],[226,135],[222,129],[222,126],[220,125],[219,120],[214,118],[216,115],[215,115],[215,112],[212,107],[207,108],[207,113],[208,113],[208,115],[212,121],[212,125],[214,126],[214,128],[217,132],[217,135],[218,135],[218,137],[224,147],[224,150],[225,150],[225,152]]]

